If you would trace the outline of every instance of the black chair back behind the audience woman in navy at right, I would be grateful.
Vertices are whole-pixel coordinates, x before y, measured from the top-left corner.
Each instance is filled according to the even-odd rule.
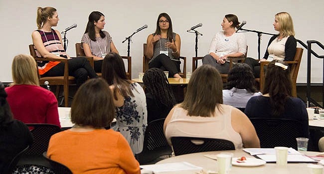
[[[303,137],[302,123],[292,119],[250,118],[260,140],[261,148],[277,146],[297,150],[296,138]]]

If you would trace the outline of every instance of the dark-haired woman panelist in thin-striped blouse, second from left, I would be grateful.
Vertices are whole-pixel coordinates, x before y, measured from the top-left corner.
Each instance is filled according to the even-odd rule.
[[[105,24],[105,15],[99,11],[92,11],[81,39],[81,48],[86,56],[93,57],[96,72],[101,72],[102,62],[108,52],[119,54],[110,34],[102,30]]]

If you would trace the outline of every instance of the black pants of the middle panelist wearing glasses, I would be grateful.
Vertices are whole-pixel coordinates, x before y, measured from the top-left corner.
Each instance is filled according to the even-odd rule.
[[[169,72],[169,77],[180,72],[180,61],[171,60],[165,54],[160,54],[149,63],[149,68],[160,68]]]

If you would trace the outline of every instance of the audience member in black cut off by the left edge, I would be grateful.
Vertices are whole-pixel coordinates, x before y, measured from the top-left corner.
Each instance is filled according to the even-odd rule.
[[[4,85],[0,82],[0,174],[4,173],[14,156],[33,141],[27,126],[12,118],[6,97]]]

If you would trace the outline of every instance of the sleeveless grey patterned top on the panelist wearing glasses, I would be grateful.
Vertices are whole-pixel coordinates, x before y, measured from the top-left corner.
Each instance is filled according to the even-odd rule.
[[[176,35],[176,33],[173,32],[172,33],[172,38],[173,38],[174,41],[175,41],[175,35]],[[160,55],[160,51],[167,51],[168,52],[167,53],[168,54],[168,57],[170,57],[171,60],[180,61],[179,59],[177,59],[177,58],[175,58],[173,56],[172,49],[171,48],[165,48],[164,44],[167,42],[167,40],[169,42],[172,41],[171,39],[161,38],[160,40],[158,40],[156,42],[156,44],[154,45],[154,48],[153,48],[153,57],[149,61],[149,63],[151,63],[153,59],[155,59],[158,55]]]

